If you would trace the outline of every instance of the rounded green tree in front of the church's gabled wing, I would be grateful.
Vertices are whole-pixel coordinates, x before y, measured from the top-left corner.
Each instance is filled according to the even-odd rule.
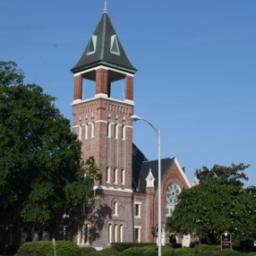
[[[216,165],[197,170],[200,183],[181,192],[166,229],[196,234],[206,243],[218,243],[226,230],[239,241],[255,237],[255,190],[244,189],[242,182],[247,180],[247,167]]]

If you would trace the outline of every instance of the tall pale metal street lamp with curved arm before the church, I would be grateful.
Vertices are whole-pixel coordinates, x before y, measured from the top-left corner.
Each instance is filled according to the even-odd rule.
[[[161,256],[161,132],[149,121],[138,115],[131,116],[132,121],[144,121],[148,123],[158,136],[158,256]]]

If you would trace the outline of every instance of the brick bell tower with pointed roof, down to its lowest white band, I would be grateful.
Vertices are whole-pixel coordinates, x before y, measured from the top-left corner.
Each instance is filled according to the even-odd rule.
[[[106,7],[72,72],[73,132],[81,140],[82,159],[95,158],[103,189],[132,192],[131,115],[136,69],[124,52]],[[82,98],[84,81],[95,83],[94,97]],[[112,98],[116,81],[124,82],[123,99]]]

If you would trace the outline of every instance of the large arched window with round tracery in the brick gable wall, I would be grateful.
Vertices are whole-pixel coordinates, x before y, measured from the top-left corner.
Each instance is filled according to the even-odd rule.
[[[177,183],[170,183],[166,190],[166,216],[172,216],[181,188]]]

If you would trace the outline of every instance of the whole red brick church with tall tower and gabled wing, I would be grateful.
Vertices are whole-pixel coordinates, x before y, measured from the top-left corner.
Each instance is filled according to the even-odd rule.
[[[161,221],[158,239],[158,160],[149,160],[132,143],[135,67],[125,54],[105,8],[78,63],[72,69],[73,132],[82,143],[82,159],[94,157],[102,184],[95,184],[95,210],[84,212],[75,242],[105,248],[115,242],[169,243],[166,217],[177,195],[190,188],[177,158],[161,159]],[[84,97],[87,84],[92,97]],[[124,98],[113,97],[124,84]],[[189,246],[189,235],[178,243]]]

